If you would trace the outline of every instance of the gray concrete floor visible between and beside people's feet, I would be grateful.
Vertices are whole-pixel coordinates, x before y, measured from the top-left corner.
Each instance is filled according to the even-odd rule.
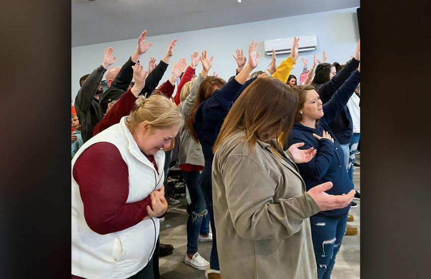
[[[360,155],[356,156],[360,164]],[[360,168],[354,168],[353,175],[355,188],[360,192]],[[360,205],[359,200],[355,200]],[[187,244],[187,212],[186,198],[180,198],[180,203],[169,206],[166,221],[161,223],[160,241],[172,244],[172,255],[160,259],[160,273],[162,279],[204,279],[205,271],[198,271],[183,263]],[[360,214],[361,206],[352,208],[350,214],[354,216],[353,222],[348,224],[358,228],[357,235],[344,235],[343,243],[338,252],[335,267],[332,271],[332,279],[359,279],[360,278]],[[199,242],[199,253],[210,260],[211,242]]]

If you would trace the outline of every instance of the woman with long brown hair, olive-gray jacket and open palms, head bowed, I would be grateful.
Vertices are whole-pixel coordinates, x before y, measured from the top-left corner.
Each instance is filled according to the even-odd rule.
[[[290,133],[297,107],[292,89],[263,77],[253,81],[227,114],[214,145],[213,205],[221,278],[317,278],[309,217],[342,208],[343,196],[306,192],[296,164],[313,148],[284,152],[276,138]]]

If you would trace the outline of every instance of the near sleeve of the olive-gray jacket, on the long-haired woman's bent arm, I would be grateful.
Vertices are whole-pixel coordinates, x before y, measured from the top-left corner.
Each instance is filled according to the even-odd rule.
[[[319,212],[308,193],[274,200],[276,185],[262,166],[246,156],[230,157],[223,165],[228,210],[243,239],[289,237],[301,229],[304,219]]]

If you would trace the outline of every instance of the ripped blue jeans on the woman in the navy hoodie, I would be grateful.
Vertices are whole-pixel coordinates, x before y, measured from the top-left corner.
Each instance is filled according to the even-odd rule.
[[[313,215],[310,217],[311,237],[319,279],[330,279],[335,257],[346,232],[348,214],[337,219]]]

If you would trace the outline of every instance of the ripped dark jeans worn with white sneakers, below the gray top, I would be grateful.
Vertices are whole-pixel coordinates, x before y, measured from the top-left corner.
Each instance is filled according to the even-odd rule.
[[[186,187],[190,194],[191,214],[187,219],[187,254],[195,254],[198,252],[198,237],[200,234],[209,234],[210,218],[207,216],[204,193],[201,189],[201,173],[199,171],[181,170]]]

